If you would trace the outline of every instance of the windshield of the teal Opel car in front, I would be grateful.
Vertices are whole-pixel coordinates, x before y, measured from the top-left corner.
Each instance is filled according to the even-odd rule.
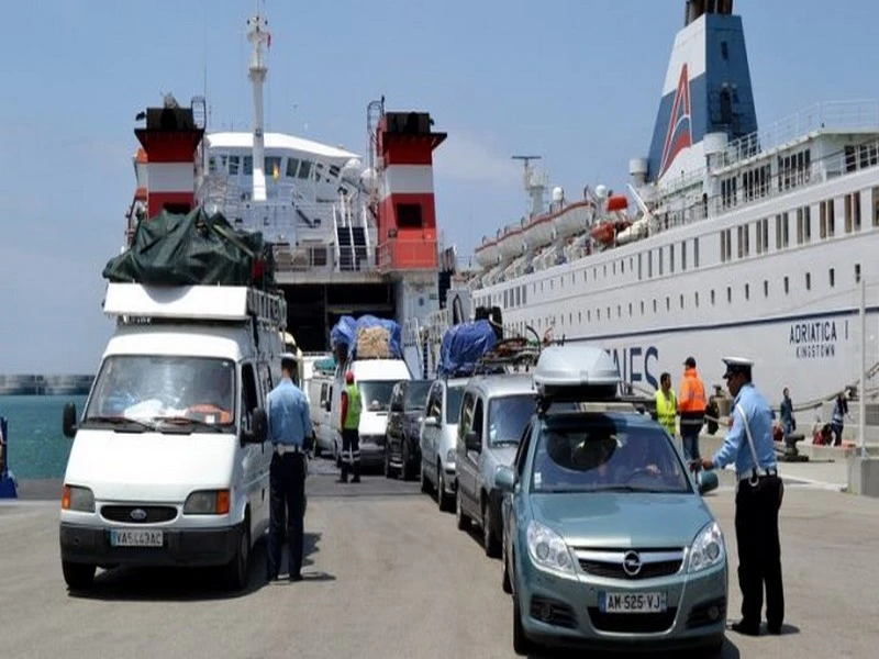
[[[603,414],[546,418],[531,487],[535,492],[692,491],[665,431]]]

